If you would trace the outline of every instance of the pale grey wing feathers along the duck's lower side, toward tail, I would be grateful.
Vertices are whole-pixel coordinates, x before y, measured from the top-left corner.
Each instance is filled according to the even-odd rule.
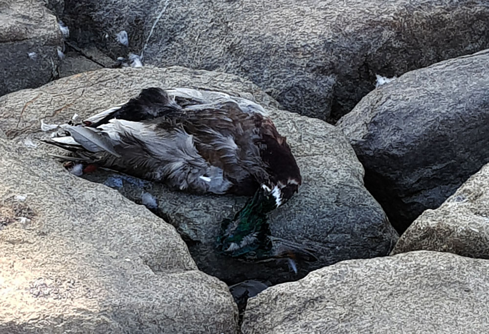
[[[181,126],[169,131],[160,125],[111,119],[96,129],[66,129],[70,134],[83,129],[94,134],[92,137],[80,140],[75,135],[52,141],[74,152],[80,161],[163,182],[177,190],[223,194],[230,189],[232,184],[223,177],[222,169],[200,156],[192,135]]]

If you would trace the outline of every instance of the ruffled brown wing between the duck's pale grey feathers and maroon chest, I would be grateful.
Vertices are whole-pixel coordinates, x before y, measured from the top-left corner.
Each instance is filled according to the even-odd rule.
[[[182,125],[194,136],[199,154],[223,170],[231,180],[230,192],[252,195],[269,182],[261,152],[264,116],[243,112],[235,102],[222,102],[203,109],[186,109]]]

